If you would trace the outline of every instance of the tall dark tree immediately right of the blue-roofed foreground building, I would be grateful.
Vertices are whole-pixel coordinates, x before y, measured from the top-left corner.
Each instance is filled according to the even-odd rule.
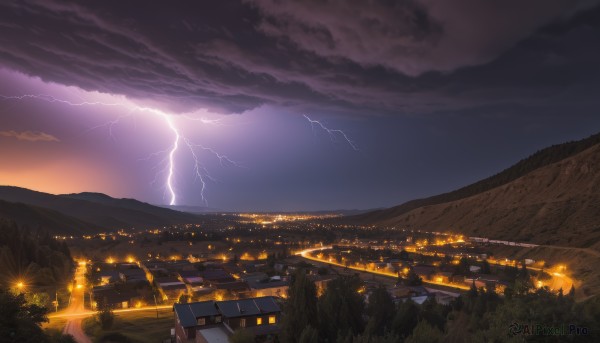
[[[303,269],[292,276],[282,318],[284,342],[297,343],[307,326],[317,327],[317,289]]]

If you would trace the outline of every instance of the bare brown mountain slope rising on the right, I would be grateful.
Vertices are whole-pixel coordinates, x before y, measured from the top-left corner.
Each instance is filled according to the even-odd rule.
[[[600,134],[540,150],[459,190],[351,219],[364,224],[600,248]]]

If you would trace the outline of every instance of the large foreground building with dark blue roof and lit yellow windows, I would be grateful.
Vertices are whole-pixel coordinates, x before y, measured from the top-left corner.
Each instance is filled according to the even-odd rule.
[[[173,310],[178,343],[227,342],[227,337],[240,328],[255,336],[279,333],[281,309],[274,297],[175,304]]]

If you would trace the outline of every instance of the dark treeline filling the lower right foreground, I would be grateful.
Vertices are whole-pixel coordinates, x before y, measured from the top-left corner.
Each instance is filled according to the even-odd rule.
[[[280,341],[598,342],[600,337],[598,297],[576,303],[573,292],[534,289],[524,279],[517,280],[506,296],[472,287],[450,305],[438,304],[435,298],[421,305],[411,300],[395,304],[383,286],[371,292],[367,302],[363,290],[357,276],[342,276],[317,297],[306,275],[295,274],[284,305]],[[577,334],[569,333],[571,325]]]

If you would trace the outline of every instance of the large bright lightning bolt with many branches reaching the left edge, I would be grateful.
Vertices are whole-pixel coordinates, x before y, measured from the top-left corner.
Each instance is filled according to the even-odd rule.
[[[194,172],[195,172],[196,177],[200,180],[200,183],[202,185],[200,195],[202,198],[202,202],[206,206],[208,206],[208,201],[204,195],[204,191],[206,189],[206,179],[211,180],[211,181],[214,181],[215,179],[212,176],[210,176],[210,174],[208,173],[208,170],[204,166],[202,166],[202,164],[200,163],[200,158],[199,158],[198,154],[196,153],[195,149],[200,148],[203,151],[206,151],[206,152],[212,154],[213,156],[215,156],[216,158],[219,159],[219,162],[221,163],[222,166],[232,165],[235,167],[242,167],[239,163],[229,159],[226,155],[218,153],[216,150],[214,150],[212,148],[205,147],[201,144],[192,143],[190,140],[188,140],[185,136],[183,136],[181,134],[180,130],[177,128],[177,126],[173,122],[173,116],[174,116],[173,114],[165,113],[156,108],[138,106],[138,105],[134,105],[134,104],[128,104],[125,102],[102,102],[102,101],[74,102],[74,101],[70,101],[70,100],[60,99],[60,98],[57,98],[57,97],[54,97],[54,96],[48,95],[48,94],[23,94],[23,95],[18,95],[18,96],[7,96],[7,95],[0,94],[0,99],[3,99],[3,100],[34,99],[34,100],[42,100],[42,101],[46,101],[46,102],[50,102],[50,103],[60,103],[60,104],[68,105],[68,106],[110,106],[110,107],[123,108],[128,111],[127,114],[121,115],[121,116],[117,117],[116,119],[108,121],[104,124],[91,127],[84,132],[84,133],[88,133],[90,131],[97,130],[102,127],[106,127],[106,128],[108,128],[109,137],[111,137],[114,141],[116,141],[116,139],[112,132],[113,127],[115,125],[119,124],[119,122],[122,119],[132,116],[135,112],[150,113],[150,114],[161,117],[167,124],[168,129],[173,134],[173,141],[171,143],[171,147],[168,149],[159,151],[159,152],[154,152],[154,153],[150,154],[148,157],[139,159],[139,160],[151,160],[156,156],[166,153],[167,156],[165,159],[162,160],[162,162],[167,161],[167,167],[165,168],[166,174],[167,174],[167,177],[165,180],[165,188],[169,193],[169,198],[170,198],[169,205],[171,205],[171,206],[177,204],[177,193],[176,193],[173,179],[175,177],[175,168],[176,168],[175,155],[180,147],[180,142],[183,142],[189,148],[192,158],[194,159],[194,162],[195,162]],[[206,118],[202,118],[202,117],[193,116],[190,113],[181,114],[179,116],[181,118],[185,118],[188,120],[199,121],[203,124],[210,124],[210,125],[220,125],[221,124],[218,119],[206,119]],[[163,170],[163,172],[165,170]],[[157,177],[155,176],[155,179],[151,182],[151,184],[153,184],[156,181],[156,179],[157,179]]]

